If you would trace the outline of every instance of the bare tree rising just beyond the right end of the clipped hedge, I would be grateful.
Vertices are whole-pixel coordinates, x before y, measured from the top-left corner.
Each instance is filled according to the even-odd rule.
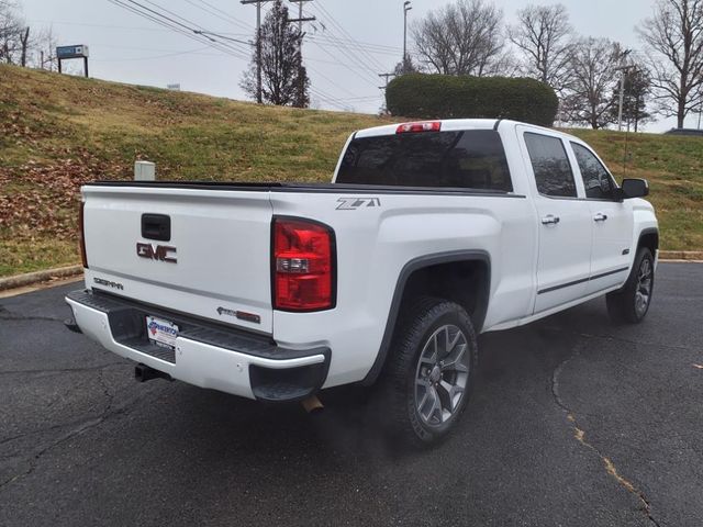
[[[525,58],[525,72],[563,90],[569,76],[573,30],[562,4],[528,5],[517,11],[517,23],[507,32]]]

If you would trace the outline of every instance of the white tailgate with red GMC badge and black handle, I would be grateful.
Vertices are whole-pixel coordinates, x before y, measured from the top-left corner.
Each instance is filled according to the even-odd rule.
[[[82,193],[89,288],[272,332],[264,188],[88,186]]]

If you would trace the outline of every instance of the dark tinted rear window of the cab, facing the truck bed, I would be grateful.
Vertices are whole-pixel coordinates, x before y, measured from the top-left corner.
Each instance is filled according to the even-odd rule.
[[[336,182],[513,191],[503,143],[493,130],[354,138]]]

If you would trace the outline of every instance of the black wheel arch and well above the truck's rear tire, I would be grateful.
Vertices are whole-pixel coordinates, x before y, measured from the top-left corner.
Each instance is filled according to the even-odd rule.
[[[427,283],[426,279],[435,277],[435,273],[439,271],[443,271],[443,278],[437,283],[434,281]],[[447,271],[451,272],[447,274]],[[405,301],[414,298],[415,294],[432,293],[437,288],[448,291],[446,288],[456,283],[453,281],[456,272],[461,276],[468,272],[464,278],[471,284],[471,288],[466,290],[466,298],[461,299],[462,291],[458,288],[454,288],[456,293],[449,294],[450,298],[444,295],[442,298],[455,301],[465,306],[465,309],[468,307],[467,312],[471,317],[477,335],[481,332],[488,312],[491,288],[490,255],[484,250],[458,250],[421,256],[410,260],[399,273],[378,355],[361,384],[373,384],[380,375]],[[424,284],[426,288],[419,287],[419,284]],[[466,305],[466,300],[469,300],[469,305]]]

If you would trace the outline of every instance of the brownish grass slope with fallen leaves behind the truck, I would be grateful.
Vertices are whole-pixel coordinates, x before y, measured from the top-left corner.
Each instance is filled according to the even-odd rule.
[[[326,181],[372,115],[227,99],[0,65],[0,276],[75,264],[78,188],[131,179]],[[623,175],[624,134],[573,131]],[[703,247],[703,141],[631,135],[627,176],[649,179],[667,249]]]

